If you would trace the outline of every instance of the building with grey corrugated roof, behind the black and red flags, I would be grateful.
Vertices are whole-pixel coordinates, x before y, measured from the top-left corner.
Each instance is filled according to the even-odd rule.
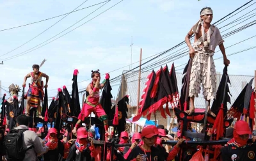
[[[128,105],[128,118],[135,116],[136,114],[136,107],[138,105],[138,71],[136,72],[127,72],[124,71],[124,74],[122,75],[122,81],[120,84],[120,91],[119,91],[119,98],[122,98],[125,95],[129,95],[129,105]],[[145,83],[148,81],[147,76],[151,72],[141,72],[141,83],[140,83],[140,101],[141,101],[141,95],[143,94],[143,89],[145,88]],[[182,87],[181,80],[182,80],[182,73],[176,73],[177,76],[177,84],[179,91]],[[217,73],[217,87],[220,83],[222,73]],[[229,75],[231,86],[230,86],[230,94],[231,96],[231,104],[228,104],[228,108],[231,107],[231,105],[236,100],[239,93],[242,91],[244,86],[252,79],[254,76],[252,75]],[[254,83],[253,83],[254,84]],[[179,93],[180,94],[180,93]],[[212,102],[211,102],[212,103]],[[195,107],[204,109],[205,108],[205,99],[200,93],[198,98],[195,98]],[[165,108],[165,107],[164,107]],[[172,107],[169,106],[171,109]],[[157,111],[156,114],[156,121],[158,125],[164,125],[165,128],[169,129],[170,124],[177,123],[177,119],[175,118],[174,112],[171,112],[172,116],[166,116],[167,118],[163,118],[161,116],[160,112]],[[154,114],[151,115],[151,120],[155,121]],[[173,125],[173,124],[172,124]]]

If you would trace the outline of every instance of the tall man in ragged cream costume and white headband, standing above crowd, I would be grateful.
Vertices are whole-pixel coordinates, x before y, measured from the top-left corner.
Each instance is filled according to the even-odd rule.
[[[193,59],[191,75],[189,82],[190,108],[186,111],[189,115],[195,112],[194,100],[200,93],[200,84],[202,83],[205,103],[208,102],[208,113],[215,117],[210,109],[211,99],[216,98],[216,70],[212,58],[216,46],[220,47],[223,55],[224,65],[229,65],[230,61],[225,54],[224,40],[221,38],[219,29],[211,25],[212,10],[209,7],[200,11],[200,20],[192,27],[185,37],[189,47],[189,57]],[[189,38],[195,34],[193,47]]]

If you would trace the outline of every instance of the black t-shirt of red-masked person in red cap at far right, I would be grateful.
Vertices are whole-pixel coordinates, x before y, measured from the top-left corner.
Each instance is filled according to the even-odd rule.
[[[246,146],[241,148],[228,145],[221,148],[221,158],[223,161],[256,160],[255,152],[256,152],[256,143],[246,144]]]

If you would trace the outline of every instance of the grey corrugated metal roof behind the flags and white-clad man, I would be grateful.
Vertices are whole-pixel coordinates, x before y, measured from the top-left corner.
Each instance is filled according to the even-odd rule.
[[[129,104],[132,106],[137,105],[137,96],[138,96],[138,71],[134,72],[127,72],[124,71],[125,73],[123,76],[124,81],[122,81],[122,86],[120,87],[120,97],[124,95],[129,95],[130,102]],[[136,75],[132,73],[137,73]],[[140,83],[140,101],[141,101],[141,95],[143,94],[143,89],[145,89],[145,83],[148,81],[147,76],[151,72],[141,72],[141,83]],[[217,84],[220,83],[222,73],[217,72]],[[176,73],[177,77],[177,84],[179,91],[181,89],[182,83],[182,73]],[[230,86],[230,94],[231,96],[231,105],[234,103],[236,100],[237,96],[239,93],[242,91],[246,83],[250,81],[254,76],[252,75],[229,75],[231,86]],[[253,81],[254,84],[254,81]],[[212,103],[212,102],[211,102]],[[228,105],[228,108],[231,106]],[[204,96],[200,93],[198,98],[195,98],[195,107],[196,108],[204,108],[205,107],[205,99]]]

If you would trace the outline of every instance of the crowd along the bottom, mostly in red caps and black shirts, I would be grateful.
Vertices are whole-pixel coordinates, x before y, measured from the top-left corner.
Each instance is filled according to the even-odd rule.
[[[41,132],[38,128],[29,128],[29,117],[20,115],[17,117],[17,127],[15,129],[24,130],[22,134],[22,147],[24,148],[24,158],[22,160],[66,160],[66,161],[99,161],[102,157],[102,146],[93,144],[96,138],[93,126],[80,127],[76,131],[76,139],[67,140],[67,130],[63,129],[58,134],[56,128],[49,128],[47,135],[41,139]],[[12,130],[0,129],[0,154],[1,160],[9,160],[8,155],[12,151],[7,151],[4,146],[4,139]],[[163,125],[149,125],[141,132],[121,132],[116,143],[131,146],[122,146],[114,149],[113,160],[175,160],[180,150],[188,148],[186,141],[192,138],[182,139],[179,135],[169,135],[168,130]],[[237,121],[233,127],[227,128],[226,137],[230,140],[221,148],[220,160],[255,160],[255,140],[249,141],[252,135],[248,123]],[[114,139],[115,136],[109,135]],[[177,140],[175,146],[164,144],[165,141]],[[111,150],[106,151],[106,159],[111,160]],[[191,155],[190,158],[193,158]]]

